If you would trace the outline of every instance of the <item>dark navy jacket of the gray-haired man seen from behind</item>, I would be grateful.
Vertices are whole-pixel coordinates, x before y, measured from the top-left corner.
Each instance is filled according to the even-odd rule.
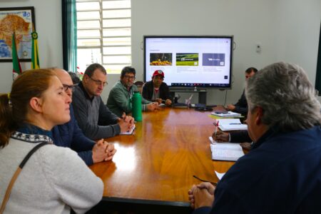
[[[321,128],[270,130],[223,176],[213,208],[194,213],[321,213]]]

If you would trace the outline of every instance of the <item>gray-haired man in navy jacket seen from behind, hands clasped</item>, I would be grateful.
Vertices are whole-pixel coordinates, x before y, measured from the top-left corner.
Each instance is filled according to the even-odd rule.
[[[188,191],[194,213],[321,213],[321,106],[302,68],[274,63],[247,81],[253,149],[215,188]]]

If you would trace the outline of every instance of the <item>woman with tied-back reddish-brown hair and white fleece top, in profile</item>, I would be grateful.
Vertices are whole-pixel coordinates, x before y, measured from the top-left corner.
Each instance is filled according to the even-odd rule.
[[[0,96],[0,213],[85,213],[101,200],[101,179],[51,140],[51,129],[70,120],[70,103],[46,69],[24,71]]]

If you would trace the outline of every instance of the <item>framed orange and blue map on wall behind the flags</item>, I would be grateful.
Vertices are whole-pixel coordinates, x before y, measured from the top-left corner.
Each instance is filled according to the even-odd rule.
[[[0,62],[12,61],[12,35],[20,61],[31,61],[31,33],[36,31],[34,6],[0,8]]]

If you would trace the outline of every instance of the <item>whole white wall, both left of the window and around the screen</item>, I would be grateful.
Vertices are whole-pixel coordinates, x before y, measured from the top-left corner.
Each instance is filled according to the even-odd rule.
[[[244,71],[250,66],[263,68],[275,61],[297,63],[315,84],[320,0],[131,0],[131,5],[137,80],[143,79],[143,35],[234,35],[233,89],[228,90],[227,103],[240,97]],[[35,6],[41,66],[63,65],[61,1],[1,0],[0,6]],[[258,43],[262,46],[260,54],[255,51]],[[30,63],[21,66],[30,68]],[[9,91],[11,71],[12,63],[1,63],[0,92]],[[118,75],[108,75],[103,101],[118,79]],[[209,104],[223,104],[224,99],[225,91],[208,90]]]

